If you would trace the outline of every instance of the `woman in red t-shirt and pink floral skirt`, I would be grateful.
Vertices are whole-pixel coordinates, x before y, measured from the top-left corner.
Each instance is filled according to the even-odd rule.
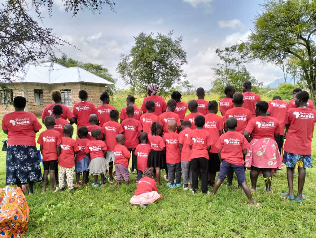
[[[276,118],[267,116],[269,104],[258,101],[255,106],[257,117],[251,119],[246,126],[244,136],[250,143],[248,154],[245,158],[245,167],[251,169],[250,179],[252,192],[257,190],[257,179],[262,172],[266,192],[271,189],[272,170],[283,167],[277,143],[279,141],[279,122]]]

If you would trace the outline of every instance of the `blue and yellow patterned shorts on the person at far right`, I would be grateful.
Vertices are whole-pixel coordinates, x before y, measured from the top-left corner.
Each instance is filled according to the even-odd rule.
[[[312,155],[296,155],[284,151],[283,163],[289,168],[313,168]]]

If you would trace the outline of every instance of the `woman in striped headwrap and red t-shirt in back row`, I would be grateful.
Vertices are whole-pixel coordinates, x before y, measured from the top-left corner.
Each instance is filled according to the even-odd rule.
[[[160,91],[160,87],[155,83],[149,83],[147,86],[147,93],[148,97],[145,97],[143,100],[142,107],[140,108],[143,111],[143,114],[147,112],[146,109],[146,102],[149,100],[152,100],[155,102],[156,109],[155,112],[153,112],[155,115],[159,116],[161,113],[164,113],[167,110],[167,103],[166,100],[156,95]]]

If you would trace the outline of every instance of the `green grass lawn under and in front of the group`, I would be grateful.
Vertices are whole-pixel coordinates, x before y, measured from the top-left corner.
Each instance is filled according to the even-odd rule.
[[[194,97],[184,96],[183,101],[191,98]],[[211,99],[217,99],[216,95],[207,95],[206,100]],[[136,103],[140,106],[141,99]],[[111,104],[120,110],[125,97],[114,97]],[[6,138],[3,132],[0,136]],[[316,140],[312,148],[315,159]],[[1,187],[5,184],[5,156],[1,151]],[[273,177],[272,194],[263,192],[264,181],[260,176],[253,197],[262,203],[261,208],[247,206],[245,194],[237,189],[236,178],[232,187],[223,185],[214,197],[203,196],[201,192],[194,195],[181,187],[168,189],[163,184],[158,188],[161,201],[146,209],[129,204],[136,188],[136,175],[131,175],[131,186],[123,182],[117,188],[115,183],[107,183],[104,187],[81,187],[74,193],[66,190],[53,194],[47,186],[43,195],[41,183],[37,183],[35,195],[26,196],[30,219],[25,237],[316,237],[316,172],[312,168],[307,173],[307,199],[300,203],[280,195],[287,191],[285,168]],[[249,171],[246,178],[249,184]],[[296,193],[297,177],[294,186]]]

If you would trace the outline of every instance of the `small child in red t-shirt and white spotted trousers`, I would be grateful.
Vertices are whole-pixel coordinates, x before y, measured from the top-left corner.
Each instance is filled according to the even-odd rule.
[[[79,151],[76,141],[72,138],[74,128],[72,125],[64,125],[63,133],[65,137],[61,138],[61,151],[59,156],[59,188],[61,191],[65,190],[65,176],[67,177],[67,185],[70,191],[76,190],[74,187],[74,168],[75,168],[75,154]]]

